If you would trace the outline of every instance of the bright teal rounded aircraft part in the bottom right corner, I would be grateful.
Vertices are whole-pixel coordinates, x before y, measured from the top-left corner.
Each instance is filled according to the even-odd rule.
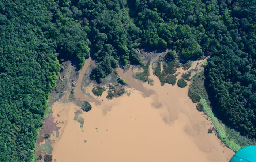
[[[256,162],[256,146],[246,146],[237,151],[230,162]]]

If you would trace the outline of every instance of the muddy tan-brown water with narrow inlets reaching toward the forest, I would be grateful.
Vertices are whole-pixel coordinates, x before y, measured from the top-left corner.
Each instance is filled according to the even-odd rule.
[[[56,161],[221,162],[228,161],[234,154],[214,133],[207,133],[212,123],[196,110],[187,96],[188,86],[161,86],[150,64],[153,86],[132,78],[132,69],[124,73],[118,68],[120,76],[131,87],[126,88],[130,95],[107,100],[105,91],[101,97],[92,94],[92,98],[84,95],[80,88],[89,62],[87,59],[79,74],[74,94],[76,99],[92,105],[89,112],[80,114],[83,127],[74,120],[74,112],[80,107],[66,100],[68,93],[53,104],[54,121],[65,121],[57,125],[61,127],[59,137],[52,139],[52,155]],[[84,91],[91,93],[92,88],[90,85]]]

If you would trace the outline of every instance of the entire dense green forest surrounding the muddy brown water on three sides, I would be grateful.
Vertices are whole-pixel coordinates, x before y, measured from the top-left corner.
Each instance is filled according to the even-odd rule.
[[[144,47],[171,48],[166,68],[177,56],[210,53],[205,76],[214,111],[255,138],[255,7],[251,0],[0,1],[0,161],[34,158],[59,62],[75,57],[80,69],[91,56],[91,79],[101,82],[118,65],[146,67],[137,50]],[[158,76],[174,84],[171,74]]]

